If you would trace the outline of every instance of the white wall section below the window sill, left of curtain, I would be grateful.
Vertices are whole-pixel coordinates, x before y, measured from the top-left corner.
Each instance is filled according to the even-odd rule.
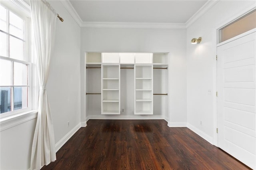
[[[0,132],[0,169],[28,170],[36,119]]]

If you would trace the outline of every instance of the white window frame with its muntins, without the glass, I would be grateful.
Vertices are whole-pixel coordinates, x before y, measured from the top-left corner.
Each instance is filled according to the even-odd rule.
[[[0,119],[2,118],[6,118],[6,117],[11,117],[14,115],[18,115],[20,113],[25,113],[28,111],[32,111],[32,79],[34,79],[34,77],[32,77],[32,62],[30,62],[32,60],[31,58],[31,48],[32,48],[32,43],[31,43],[31,32],[29,30],[31,30],[31,19],[30,16],[28,16],[28,14],[22,12],[22,10],[20,10],[20,8],[18,8],[17,6],[14,6],[14,4],[2,4],[1,6],[3,6],[4,8],[6,8],[7,10],[11,11],[12,13],[14,13],[15,15],[17,15],[18,17],[20,17],[22,20],[24,20],[24,60],[18,60],[18,59],[14,59],[14,58],[10,58],[9,52],[7,53],[7,57],[4,56],[0,56],[0,59],[4,59],[7,61],[12,61],[12,66],[13,63],[22,63],[22,64],[26,64],[28,65],[28,85],[24,85],[21,87],[28,87],[28,107],[24,108],[24,109],[18,109],[18,110],[13,110],[13,111],[9,111],[9,112],[5,112],[5,113],[1,113],[0,114]],[[9,21],[8,21],[9,22]],[[9,24],[9,23],[8,23]],[[3,31],[1,31],[3,32]],[[13,36],[12,34],[9,33],[9,30],[7,30],[7,32],[3,32],[4,34],[6,34],[10,39],[10,36],[14,37],[14,38],[18,38],[16,36]],[[18,38],[19,40],[21,40],[20,38]],[[7,43],[9,43],[9,41],[7,40]],[[30,48],[31,47],[31,48]],[[9,44],[8,44],[8,48],[7,50],[10,50]],[[12,77],[13,77],[13,67],[12,67]],[[12,88],[12,92],[14,90],[14,87],[19,87],[19,86],[15,86],[13,83],[10,86],[0,86],[0,87],[11,87]],[[11,94],[11,98],[14,97],[13,93]],[[11,103],[12,105],[14,104],[14,98],[11,99]]]

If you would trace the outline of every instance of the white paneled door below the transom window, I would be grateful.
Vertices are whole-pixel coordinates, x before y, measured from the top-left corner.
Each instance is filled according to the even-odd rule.
[[[218,147],[256,169],[256,33],[217,47]]]

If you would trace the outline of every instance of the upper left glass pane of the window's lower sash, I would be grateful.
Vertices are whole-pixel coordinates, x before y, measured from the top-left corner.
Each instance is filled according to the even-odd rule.
[[[12,63],[0,59],[0,85],[12,85]]]

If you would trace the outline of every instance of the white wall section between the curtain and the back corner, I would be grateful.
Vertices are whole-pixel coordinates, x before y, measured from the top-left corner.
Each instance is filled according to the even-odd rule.
[[[50,3],[64,19],[57,19],[55,51],[46,87],[57,143],[80,124],[80,27],[60,1]]]

